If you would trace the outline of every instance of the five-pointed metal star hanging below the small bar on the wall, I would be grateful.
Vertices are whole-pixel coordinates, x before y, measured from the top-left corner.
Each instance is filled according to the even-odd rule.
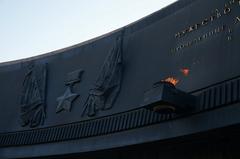
[[[57,98],[57,108],[56,113],[61,112],[62,110],[70,111],[72,107],[72,102],[78,97],[79,95],[76,93],[72,93],[71,88],[67,87],[65,93]]]

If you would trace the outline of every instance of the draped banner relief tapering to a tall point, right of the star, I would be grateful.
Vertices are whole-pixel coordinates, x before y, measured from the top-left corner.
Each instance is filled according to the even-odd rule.
[[[117,37],[93,88],[89,91],[82,116],[95,116],[98,111],[112,108],[121,88],[123,71],[122,42],[123,32]]]

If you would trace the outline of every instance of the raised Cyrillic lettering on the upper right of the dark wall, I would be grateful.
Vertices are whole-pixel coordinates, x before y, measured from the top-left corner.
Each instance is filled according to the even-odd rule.
[[[214,9],[214,11],[212,12],[212,14],[210,14],[209,17],[204,18],[202,21],[194,25],[191,25],[186,29],[176,33],[175,38],[178,39],[178,44],[171,49],[171,52],[174,53],[174,52],[181,51],[185,48],[192,47],[204,40],[211,39],[210,37],[213,37],[213,36],[217,37],[216,35],[220,33],[225,33],[223,35],[226,36],[227,41],[232,41],[233,39],[232,33],[234,32],[234,27],[233,27],[234,21],[235,21],[235,25],[240,23],[240,16],[234,15],[235,12],[232,12],[232,11],[234,11],[239,5],[240,5],[240,0],[229,0],[225,3],[222,9]],[[232,23],[230,24],[223,23],[223,25],[217,26],[214,29],[212,29],[212,27],[209,26],[210,24],[214,23],[218,19],[222,19],[222,17],[226,17],[226,16],[234,19],[232,20]],[[205,26],[209,26],[211,29],[209,28],[208,31],[206,31],[205,33],[202,33],[201,35],[197,35],[195,38],[190,38],[190,39],[183,38],[188,34],[194,31],[197,31]]]

